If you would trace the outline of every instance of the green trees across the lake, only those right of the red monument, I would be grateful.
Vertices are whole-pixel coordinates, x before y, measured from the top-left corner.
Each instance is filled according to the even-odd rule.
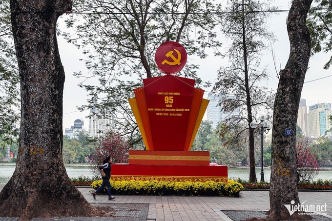
[[[308,139],[301,135],[300,127],[297,127],[297,131],[299,132],[297,133],[297,142],[306,143],[310,152],[316,156],[317,163],[324,167],[332,166],[332,137]],[[227,166],[247,166],[249,164],[249,143],[244,140],[242,145],[228,146],[227,139],[228,136],[222,138],[218,135],[218,129],[212,128],[211,121],[202,121],[191,150],[210,151],[210,162]],[[260,166],[260,133],[255,134],[254,143],[255,165]],[[267,137],[263,140],[263,161],[264,166],[271,165],[271,141]]]

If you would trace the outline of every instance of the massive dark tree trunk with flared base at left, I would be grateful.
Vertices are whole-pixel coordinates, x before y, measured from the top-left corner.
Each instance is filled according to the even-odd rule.
[[[56,40],[62,13],[52,12],[71,10],[71,5],[71,0],[10,1],[21,79],[21,135],[15,172],[0,193],[0,217],[105,214],[84,199],[62,162],[64,70]]]

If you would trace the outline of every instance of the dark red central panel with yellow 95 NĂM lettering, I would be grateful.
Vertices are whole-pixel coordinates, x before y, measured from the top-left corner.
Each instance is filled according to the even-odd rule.
[[[165,75],[143,83],[153,150],[185,150],[195,80]]]

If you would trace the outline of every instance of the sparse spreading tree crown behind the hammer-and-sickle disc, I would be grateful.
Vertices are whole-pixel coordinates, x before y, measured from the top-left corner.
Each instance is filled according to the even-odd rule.
[[[161,75],[155,62],[157,47],[165,41],[177,41],[188,55],[206,58],[206,48],[218,48],[214,14],[216,5],[202,0],[79,0],[75,10],[87,13],[66,20],[76,33],[63,33],[69,41],[83,49],[89,73],[77,73],[89,92],[88,104],[100,110],[101,118],[113,119],[115,128],[132,140],[140,134],[128,105],[133,89],[142,86],[142,79]],[[198,65],[187,62],[179,73],[209,85],[196,75]],[[98,82],[89,81],[98,78]],[[138,138],[138,139],[137,139]]]

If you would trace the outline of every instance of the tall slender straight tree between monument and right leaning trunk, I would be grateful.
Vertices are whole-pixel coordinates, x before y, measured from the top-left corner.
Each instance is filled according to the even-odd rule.
[[[243,136],[249,130],[250,181],[256,181],[254,158],[254,134],[249,124],[258,117],[260,111],[272,109],[274,95],[266,93],[267,88],[259,85],[268,78],[261,67],[262,51],[273,41],[268,30],[266,13],[254,11],[272,10],[269,2],[253,0],[230,0],[226,10],[231,12],[222,17],[222,32],[231,40],[227,50],[228,66],[218,71],[218,80],[213,92],[220,93],[219,105],[227,115],[222,121],[220,135],[230,134],[229,146],[240,145]]]

